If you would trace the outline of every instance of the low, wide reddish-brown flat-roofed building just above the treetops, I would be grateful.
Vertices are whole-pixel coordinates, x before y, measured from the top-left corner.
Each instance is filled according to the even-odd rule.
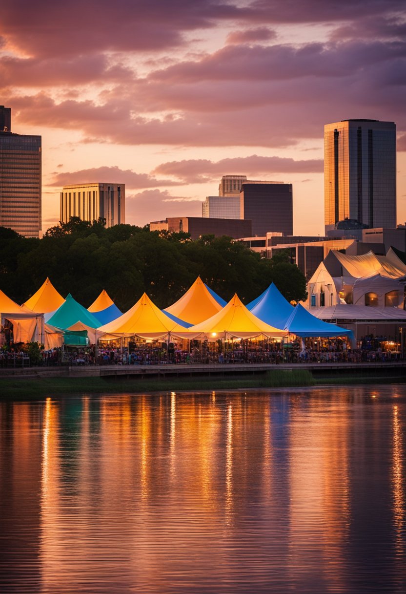
[[[240,219],[206,219],[204,217],[168,217],[150,223],[150,231],[169,231],[190,233],[191,239],[202,235],[221,237],[228,235],[234,239],[251,235],[251,221]]]

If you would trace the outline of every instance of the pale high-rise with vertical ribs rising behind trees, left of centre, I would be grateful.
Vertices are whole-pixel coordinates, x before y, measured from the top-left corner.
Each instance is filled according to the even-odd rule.
[[[106,227],[125,223],[124,184],[66,185],[61,192],[61,222],[71,217],[93,221],[106,219]]]

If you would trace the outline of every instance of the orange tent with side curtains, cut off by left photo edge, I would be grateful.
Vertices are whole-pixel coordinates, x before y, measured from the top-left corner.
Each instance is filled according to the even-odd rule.
[[[0,290],[0,324],[12,324],[14,342],[44,342],[44,316],[18,305]]]

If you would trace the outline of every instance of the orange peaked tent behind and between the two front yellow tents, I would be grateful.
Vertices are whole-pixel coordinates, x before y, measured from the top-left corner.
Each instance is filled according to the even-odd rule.
[[[191,324],[199,324],[217,314],[221,309],[221,305],[214,299],[198,276],[185,295],[182,295],[176,303],[165,308],[164,311],[176,315],[180,320],[185,320]]]

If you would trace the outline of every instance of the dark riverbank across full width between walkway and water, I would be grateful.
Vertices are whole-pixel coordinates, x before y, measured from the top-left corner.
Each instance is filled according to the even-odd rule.
[[[337,370],[338,371],[338,370]],[[388,369],[388,372],[390,370]],[[139,394],[144,392],[186,390],[240,390],[243,388],[305,387],[321,384],[403,383],[399,374],[360,373],[359,375],[318,374],[307,369],[271,369],[261,375],[234,375],[232,378],[167,377],[167,378],[102,378],[102,377],[37,377],[2,378],[0,397],[7,399],[32,399],[59,394]]]

